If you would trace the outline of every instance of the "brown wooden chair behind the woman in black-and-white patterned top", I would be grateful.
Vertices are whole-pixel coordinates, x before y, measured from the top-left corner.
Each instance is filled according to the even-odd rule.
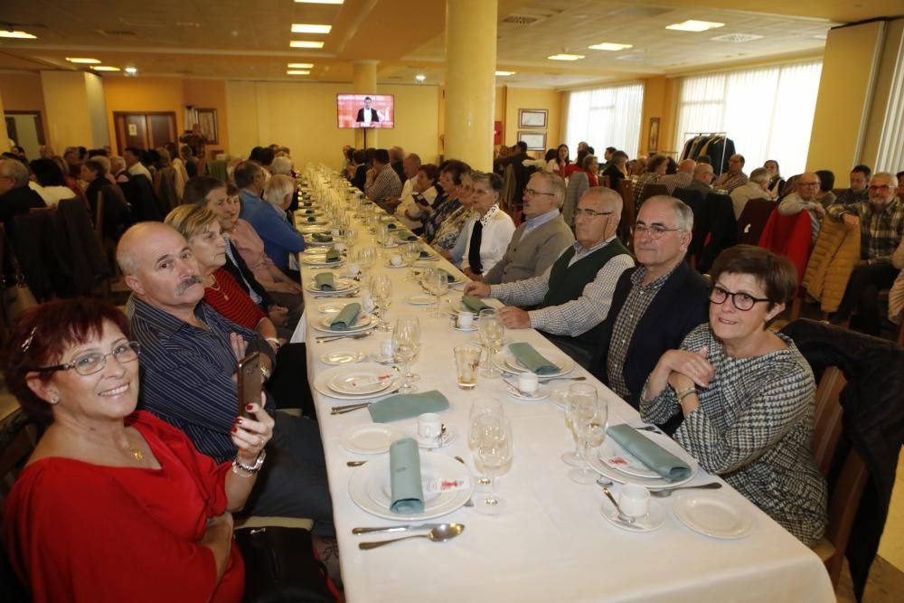
[[[843,410],[838,399],[846,384],[841,370],[832,366],[825,370],[816,389],[812,450],[816,466],[826,479],[832,470],[838,442],[842,436]],[[868,476],[869,471],[863,459],[854,448],[851,448],[844,458],[841,473],[829,492],[829,523],[825,535],[813,547],[829,572],[833,588],[838,586],[844,551],[851,538],[851,527]]]

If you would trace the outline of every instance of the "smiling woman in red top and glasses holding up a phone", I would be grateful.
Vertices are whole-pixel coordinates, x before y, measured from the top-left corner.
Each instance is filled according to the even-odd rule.
[[[240,601],[232,512],[254,485],[273,419],[236,419],[217,466],[135,411],[138,344],[116,308],[56,301],[23,315],[6,383],[49,423],[4,510],[5,546],[35,601]]]

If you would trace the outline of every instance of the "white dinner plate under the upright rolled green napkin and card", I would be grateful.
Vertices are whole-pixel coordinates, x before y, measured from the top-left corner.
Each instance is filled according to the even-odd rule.
[[[413,522],[442,517],[463,506],[474,493],[474,478],[470,476],[467,467],[454,458],[438,453],[421,455],[420,476],[424,480],[440,477],[467,478],[469,487],[441,494],[424,495],[423,513],[392,513],[390,511],[392,503],[390,459],[381,457],[354,470],[352,479],[349,480],[348,493],[352,496],[354,504],[361,507],[363,511],[397,522]]]

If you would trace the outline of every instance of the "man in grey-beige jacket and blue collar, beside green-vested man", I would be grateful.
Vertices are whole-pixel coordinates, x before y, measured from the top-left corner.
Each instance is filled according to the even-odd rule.
[[[558,174],[534,173],[523,199],[526,220],[514,231],[503,259],[484,275],[489,285],[540,276],[574,242],[560,212],[565,183]]]

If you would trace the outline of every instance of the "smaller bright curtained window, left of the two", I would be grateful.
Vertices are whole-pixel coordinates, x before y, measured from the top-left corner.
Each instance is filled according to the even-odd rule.
[[[565,139],[572,158],[582,140],[593,146],[600,158],[607,146],[615,146],[627,156],[635,157],[643,107],[643,84],[571,92]]]

